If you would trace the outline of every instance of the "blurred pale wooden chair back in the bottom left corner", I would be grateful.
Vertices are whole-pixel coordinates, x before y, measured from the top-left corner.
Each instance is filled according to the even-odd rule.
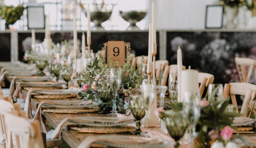
[[[44,148],[39,121],[29,123],[26,112],[10,111],[5,116],[7,132],[15,137],[16,148]]]

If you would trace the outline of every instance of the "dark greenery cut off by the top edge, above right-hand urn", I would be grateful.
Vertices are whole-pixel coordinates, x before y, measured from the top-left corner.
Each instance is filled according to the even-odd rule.
[[[242,7],[246,6],[251,8],[252,6],[248,4],[247,0],[219,0],[219,4],[223,7]]]

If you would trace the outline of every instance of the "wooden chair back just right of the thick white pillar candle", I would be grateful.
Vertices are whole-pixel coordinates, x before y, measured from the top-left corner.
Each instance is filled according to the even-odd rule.
[[[207,92],[205,97],[207,97],[208,94],[208,85],[212,84],[214,81],[214,75],[211,75],[210,73],[198,73],[198,82],[200,83],[199,92],[201,97],[203,96],[204,89],[207,87]]]

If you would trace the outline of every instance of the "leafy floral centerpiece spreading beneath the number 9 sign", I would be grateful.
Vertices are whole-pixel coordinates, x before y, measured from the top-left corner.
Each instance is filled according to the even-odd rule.
[[[131,53],[128,52],[128,57],[126,59],[126,63],[124,65],[119,65],[118,62],[116,64],[113,64],[113,62],[109,58],[109,65],[105,63],[105,61],[99,57],[95,58],[94,61],[90,65],[87,65],[87,67],[90,68],[89,73],[87,73],[87,77],[89,78],[89,81],[86,84],[82,84],[82,90],[79,92],[79,96],[83,97],[86,100],[93,100],[97,101],[100,106],[102,106],[103,101],[98,96],[97,93],[97,86],[99,81],[107,81],[109,78],[109,73],[111,68],[115,68],[119,65],[119,68],[122,70],[122,82],[121,87],[117,93],[117,99],[116,99],[116,107],[118,110],[118,113],[123,114],[129,114],[129,95],[139,95],[139,85],[142,83],[142,80],[144,79],[142,71],[139,71],[138,69],[142,69],[142,63],[144,61],[144,58],[142,56],[142,62],[138,69],[135,69],[134,65],[131,65]],[[111,110],[114,106],[114,102],[112,101],[112,98],[107,105],[107,110]]]

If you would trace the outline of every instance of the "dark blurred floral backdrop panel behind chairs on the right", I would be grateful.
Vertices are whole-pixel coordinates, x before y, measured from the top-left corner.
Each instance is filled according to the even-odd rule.
[[[178,46],[183,65],[214,75],[214,83],[240,82],[234,57],[256,59],[255,32],[167,32],[167,55],[177,63]],[[255,84],[254,73],[250,83]]]

